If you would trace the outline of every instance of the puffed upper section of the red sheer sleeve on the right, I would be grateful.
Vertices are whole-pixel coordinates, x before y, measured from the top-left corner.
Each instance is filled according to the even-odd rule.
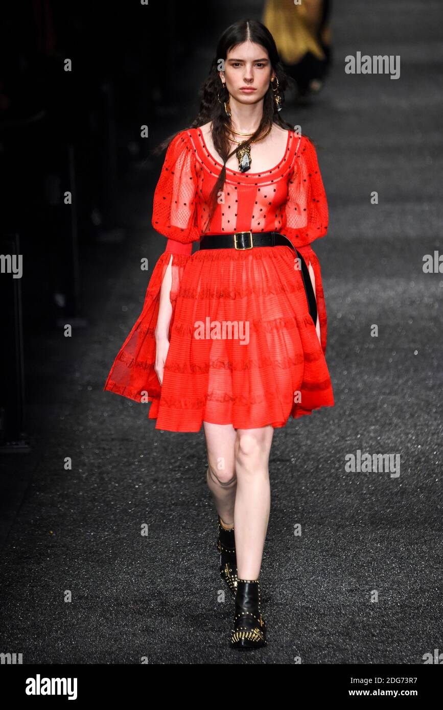
[[[309,138],[302,136],[288,185],[286,224],[282,234],[288,236],[298,249],[327,233],[328,218],[327,198],[317,152]]]

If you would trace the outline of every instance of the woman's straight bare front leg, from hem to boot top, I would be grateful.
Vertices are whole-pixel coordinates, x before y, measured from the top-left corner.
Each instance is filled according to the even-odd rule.
[[[238,429],[234,528],[239,579],[258,579],[270,511],[269,454],[272,426]]]

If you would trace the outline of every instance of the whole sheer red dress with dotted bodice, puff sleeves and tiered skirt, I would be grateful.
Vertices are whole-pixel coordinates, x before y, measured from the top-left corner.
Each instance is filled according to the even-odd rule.
[[[283,427],[334,406],[325,360],[327,317],[311,242],[327,232],[328,208],[315,147],[288,131],[285,155],[261,173],[226,168],[220,204],[206,234],[278,231],[305,258],[318,318],[307,305],[295,251],[192,251],[209,216],[222,165],[201,129],[173,138],[155,188],[152,224],[168,238],[148,283],[143,310],[117,354],[104,390],[151,402],[155,428],[198,432],[202,422],[236,429]],[[163,384],[154,370],[160,287],[172,261],[169,350]]]

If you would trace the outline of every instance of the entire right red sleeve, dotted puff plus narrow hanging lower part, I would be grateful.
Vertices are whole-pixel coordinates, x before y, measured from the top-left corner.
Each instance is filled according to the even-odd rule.
[[[322,273],[311,243],[327,234],[328,220],[327,197],[320,174],[317,151],[312,141],[307,136],[302,136],[295,152],[293,170],[288,182],[286,224],[281,231],[300,251],[309,268],[317,300],[317,335],[324,353],[326,353],[327,343],[327,315]]]

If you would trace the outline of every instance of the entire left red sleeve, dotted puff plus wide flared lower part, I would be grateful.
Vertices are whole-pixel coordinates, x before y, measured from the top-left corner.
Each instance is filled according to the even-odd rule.
[[[104,390],[137,402],[153,402],[150,418],[155,417],[161,391],[155,373],[155,327],[161,285],[171,264],[171,332],[182,275],[191,257],[192,241],[199,239],[195,221],[196,195],[195,158],[187,133],[182,131],[168,146],[153,199],[152,225],[168,239],[166,249],[153,268],[143,310],[121,346],[104,385]]]

